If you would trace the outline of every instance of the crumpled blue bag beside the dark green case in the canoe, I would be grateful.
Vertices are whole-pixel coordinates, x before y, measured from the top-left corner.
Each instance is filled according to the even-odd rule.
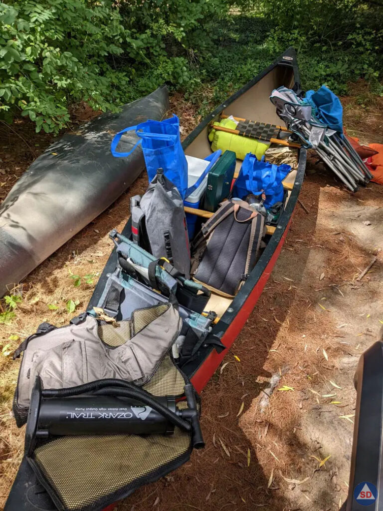
[[[259,161],[255,154],[248,153],[243,161],[240,174],[235,180],[233,197],[244,199],[250,193],[264,193],[266,208],[276,202],[283,201],[282,180],[291,171],[290,165],[274,165],[265,161],[265,156]]]

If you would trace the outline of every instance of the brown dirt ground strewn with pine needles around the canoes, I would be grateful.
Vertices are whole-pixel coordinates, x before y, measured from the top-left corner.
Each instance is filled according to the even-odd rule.
[[[344,100],[346,125],[364,142],[382,142],[382,104],[369,97],[360,103],[360,86]],[[193,107],[175,96],[173,110],[187,134],[197,122]],[[14,151],[16,135],[3,136],[0,199],[51,141],[29,126],[15,130],[29,147],[19,140]],[[300,194],[308,213],[297,205],[264,293],[202,392],[206,448],[117,504],[118,511],[332,511],[345,501],[353,373],[383,322],[383,188],[370,183],[353,195],[315,162],[309,159]],[[11,351],[20,342],[13,336],[22,339],[44,320],[65,324],[74,315],[66,311],[69,299],[79,300],[77,311],[86,306],[111,249],[108,231],[122,228],[129,196],[145,187],[141,176],[26,278],[15,319],[0,327],[0,347],[10,344]],[[356,281],[374,255],[371,270]],[[78,287],[73,275],[81,277]],[[0,507],[23,449],[24,430],[10,412],[17,370],[17,362],[0,357]]]

